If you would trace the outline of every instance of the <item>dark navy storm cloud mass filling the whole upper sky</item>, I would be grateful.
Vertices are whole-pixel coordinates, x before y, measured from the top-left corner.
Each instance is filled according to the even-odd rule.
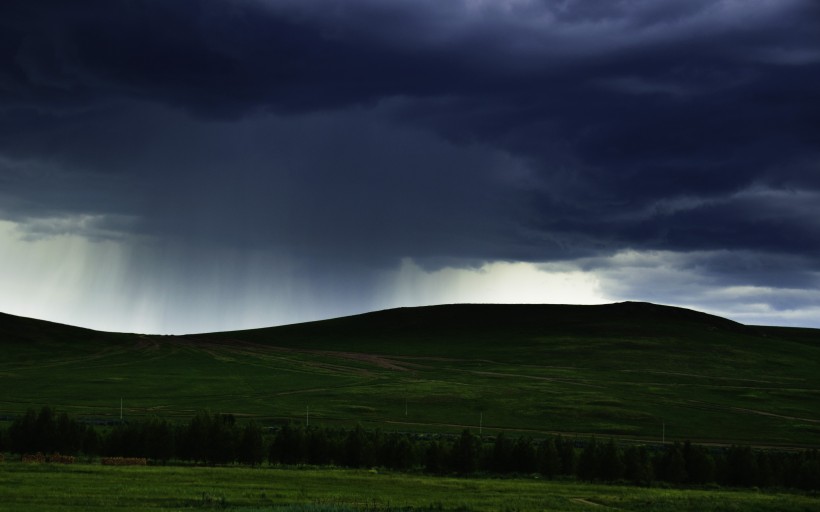
[[[351,261],[820,266],[816,2],[12,1],[0,20],[7,217]]]

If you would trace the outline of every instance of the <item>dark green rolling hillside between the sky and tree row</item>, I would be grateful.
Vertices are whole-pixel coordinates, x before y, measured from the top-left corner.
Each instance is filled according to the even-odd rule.
[[[189,336],[0,322],[0,414],[111,417],[122,398],[127,417],[309,408],[389,430],[820,445],[820,330],[680,308],[434,306]]]

